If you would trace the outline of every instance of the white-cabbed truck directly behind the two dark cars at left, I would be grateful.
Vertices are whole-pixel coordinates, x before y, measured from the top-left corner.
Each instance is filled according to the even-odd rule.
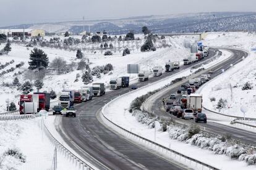
[[[74,105],[75,91],[74,90],[63,90],[59,93],[59,105],[63,108],[69,108]]]

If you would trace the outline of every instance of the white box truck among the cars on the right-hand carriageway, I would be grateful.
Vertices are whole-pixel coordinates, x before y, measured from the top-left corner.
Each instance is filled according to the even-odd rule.
[[[187,95],[187,108],[193,109],[194,112],[202,112],[203,98],[201,94]]]

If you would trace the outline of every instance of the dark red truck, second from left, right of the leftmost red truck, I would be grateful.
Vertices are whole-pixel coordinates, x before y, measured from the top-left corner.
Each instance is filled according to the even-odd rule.
[[[46,110],[49,111],[50,108],[50,94],[47,92],[34,92],[33,93],[33,102],[37,103],[37,110]]]

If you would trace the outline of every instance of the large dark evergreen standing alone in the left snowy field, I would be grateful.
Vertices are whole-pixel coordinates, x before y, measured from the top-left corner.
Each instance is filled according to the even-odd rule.
[[[47,68],[49,65],[49,59],[47,54],[45,54],[45,52],[43,52],[41,49],[34,48],[30,53],[30,62],[28,62],[28,64],[28,69],[30,70],[40,67]]]

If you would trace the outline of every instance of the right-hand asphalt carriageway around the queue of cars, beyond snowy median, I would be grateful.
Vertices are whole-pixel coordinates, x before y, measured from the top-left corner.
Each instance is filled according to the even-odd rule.
[[[239,50],[231,50],[233,52],[234,57],[232,60],[228,60],[226,62],[223,62],[220,67],[214,69],[213,74],[211,74],[211,78],[214,78],[215,76],[218,76],[222,73],[222,69],[227,70],[230,68],[231,63],[235,65],[236,63],[240,62],[242,60],[242,57],[247,57],[247,53],[244,51]],[[168,118],[171,117],[173,119],[176,119],[179,123],[183,124],[198,124],[199,126],[205,127],[206,131],[213,132],[215,134],[220,134],[225,136],[226,134],[231,134],[231,136],[234,139],[241,140],[242,142],[246,142],[248,144],[256,144],[256,132],[246,131],[244,129],[238,129],[236,127],[226,126],[224,124],[215,123],[208,121],[207,124],[205,123],[195,123],[194,120],[188,120],[188,119],[181,119],[176,118],[176,116],[173,116],[165,111],[165,108],[162,103],[162,99],[168,99],[170,94],[176,94],[178,88],[170,89],[168,92],[166,92],[163,95],[160,95],[153,100],[153,104],[150,106],[150,110],[154,111],[154,113],[158,116]],[[203,111],[204,112],[204,111]],[[209,114],[209,113],[208,113]],[[216,120],[215,120],[216,121]]]

